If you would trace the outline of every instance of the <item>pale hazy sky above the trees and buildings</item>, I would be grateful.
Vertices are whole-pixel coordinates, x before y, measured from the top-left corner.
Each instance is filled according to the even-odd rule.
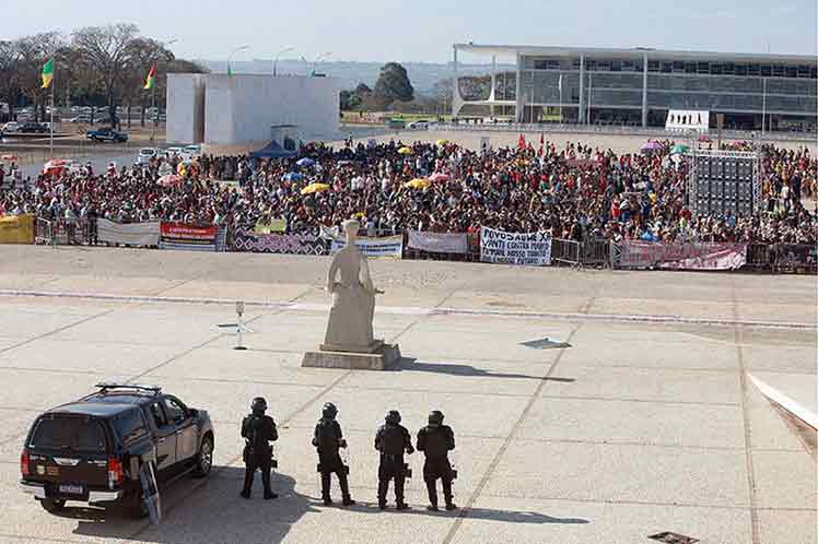
[[[815,55],[817,0],[2,0],[0,39],[135,23],[177,57],[425,61],[452,44]],[[482,61],[464,58],[461,61]]]

